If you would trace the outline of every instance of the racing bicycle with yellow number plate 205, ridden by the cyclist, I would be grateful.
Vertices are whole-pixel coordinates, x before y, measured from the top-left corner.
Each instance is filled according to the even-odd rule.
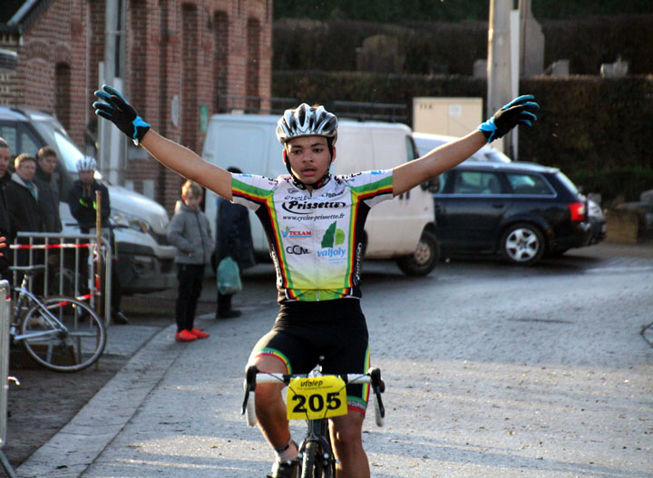
[[[331,448],[328,418],[346,415],[346,385],[369,384],[375,395],[375,422],[383,426],[385,408],[381,394],[385,383],[378,368],[370,368],[367,374],[347,374],[346,376],[322,375],[322,360],[309,374],[288,375],[259,372],[256,366],[249,366],[245,373],[245,398],[241,415],[245,415],[249,426],[257,423],[254,400],[249,393],[261,383],[283,383],[288,386],[288,419],[306,420],[307,434],[299,444],[299,476],[301,478],[334,478],[336,458]]]

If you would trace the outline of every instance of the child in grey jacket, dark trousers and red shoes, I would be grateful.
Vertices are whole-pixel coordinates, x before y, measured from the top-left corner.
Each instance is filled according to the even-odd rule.
[[[194,327],[195,309],[200,298],[204,266],[209,264],[213,249],[209,219],[200,210],[202,189],[192,181],[181,187],[180,208],[168,226],[168,240],[177,248],[177,279],[179,294],[175,303],[178,342],[190,342],[209,334]]]

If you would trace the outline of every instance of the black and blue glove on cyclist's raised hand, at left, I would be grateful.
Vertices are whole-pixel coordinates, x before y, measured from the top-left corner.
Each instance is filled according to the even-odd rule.
[[[104,91],[95,92],[95,96],[102,100],[93,103],[95,114],[113,122],[138,146],[142,137],[150,130],[150,125],[142,120],[118,90],[108,84],[102,85],[102,90]]]

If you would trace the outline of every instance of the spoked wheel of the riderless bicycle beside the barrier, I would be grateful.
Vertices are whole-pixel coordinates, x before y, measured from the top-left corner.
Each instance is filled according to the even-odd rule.
[[[38,364],[55,372],[93,365],[106,346],[106,329],[93,308],[76,298],[53,297],[30,308],[23,320],[23,345]]]

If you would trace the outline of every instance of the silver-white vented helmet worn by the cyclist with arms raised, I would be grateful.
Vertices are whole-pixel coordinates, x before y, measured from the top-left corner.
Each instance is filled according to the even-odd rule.
[[[281,144],[300,136],[324,136],[331,144],[337,140],[336,115],[324,106],[308,106],[303,102],[294,110],[286,110],[277,122],[277,139]]]

